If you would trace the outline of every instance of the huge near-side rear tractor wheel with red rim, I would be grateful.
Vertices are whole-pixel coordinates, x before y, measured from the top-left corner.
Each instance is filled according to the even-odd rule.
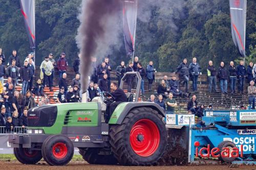
[[[155,165],[166,147],[162,116],[150,107],[132,109],[121,125],[110,127],[110,144],[122,165]]]

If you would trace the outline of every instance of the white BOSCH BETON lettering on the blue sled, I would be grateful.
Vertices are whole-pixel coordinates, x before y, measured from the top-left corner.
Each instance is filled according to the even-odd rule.
[[[254,151],[254,143],[255,143],[255,137],[234,137],[233,139],[230,137],[224,137],[224,140],[228,140],[236,144],[236,146],[239,148],[239,151],[243,150],[244,152],[247,151]],[[243,148],[241,148],[243,147]]]

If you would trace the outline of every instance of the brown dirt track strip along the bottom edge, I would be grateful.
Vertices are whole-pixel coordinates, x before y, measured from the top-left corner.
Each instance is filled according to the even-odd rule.
[[[126,170],[126,169],[134,169],[134,170],[139,170],[139,169],[145,169],[145,170],[150,170],[150,169],[168,169],[168,170],[190,170],[190,169],[203,169],[203,170],[228,170],[228,169],[246,169],[246,170],[255,170],[256,166],[238,166],[238,167],[229,167],[228,165],[200,165],[200,166],[109,166],[109,165],[92,165],[88,164],[86,162],[71,162],[67,166],[49,166],[48,164],[41,162],[40,164],[36,165],[24,165],[19,162],[0,162],[0,167],[1,169],[87,169],[87,170],[104,170],[104,169],[111,169],[111,170]]]

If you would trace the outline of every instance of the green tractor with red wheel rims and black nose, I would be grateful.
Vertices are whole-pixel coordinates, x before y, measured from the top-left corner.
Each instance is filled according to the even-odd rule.
[[[9,135],[17,160],[35,164],[44,158],[50,165],[65,165],[76,147],[91,164],[155,165],[166,147],[164,112],[155,103],[137,102],[141,83],[138,72],[126,74],[121,87],[130,74],[138,78],[136,100],[118,105],[108,124],[102,117],[104,102],[113,102],[109,98],[29,109],[26,133]],[[127,101],[131,99],[127,94]]]

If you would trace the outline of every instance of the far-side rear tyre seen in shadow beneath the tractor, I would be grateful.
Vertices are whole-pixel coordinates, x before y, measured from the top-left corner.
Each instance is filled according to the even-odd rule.
[[[78,148],[79,153],[82,155],[82,158],[90,164],[105,164],[105,165],[114,165],[118,161],[111,153],[109,155],[104,155],[110,151],[104,151],[101,148]]]

